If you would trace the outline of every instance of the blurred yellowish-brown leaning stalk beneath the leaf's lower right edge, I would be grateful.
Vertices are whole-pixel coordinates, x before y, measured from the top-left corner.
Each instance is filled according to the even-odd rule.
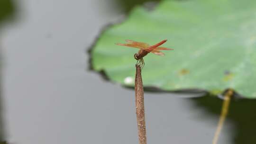
[[[218,123],[217,130],[215,132],[215,135],[213,137],[212,144],[217,144],[217,141],[219,139],[220,131],[223,127],[224,121],[225,121],[225,119],[227,117],[227,114],[228,114],[228,111],[229,111],[229,103],[230,103],[230,99],[233,96],[233,94],[234,94],[234,91],[229,89],[229,90],[226,91],[226,93],[224,95],[222,110],[221,110],[221,114],[220,114],[220,117],[219,117],[219,123]]]

